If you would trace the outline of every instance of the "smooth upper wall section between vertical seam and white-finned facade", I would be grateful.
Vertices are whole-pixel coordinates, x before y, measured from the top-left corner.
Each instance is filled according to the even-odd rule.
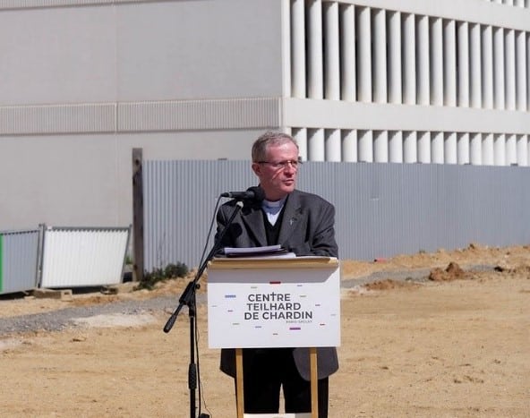
[[[117,98],[281,96],[280,3],[223,0],[117,6]]]

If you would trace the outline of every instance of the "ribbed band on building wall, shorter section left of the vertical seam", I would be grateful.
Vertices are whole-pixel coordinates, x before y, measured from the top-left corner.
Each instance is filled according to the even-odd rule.
[[[115,132],[115,104],[0,107],[0,135]]]

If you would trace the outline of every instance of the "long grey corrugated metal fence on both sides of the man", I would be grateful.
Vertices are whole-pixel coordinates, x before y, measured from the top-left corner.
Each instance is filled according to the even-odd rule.
[[[248,161],[146,161],[143,173],[148,271],[196,267],[217,196],[256,183]],[[528,167],[313,162],[298,188],[335,204],[341,259],[530,243]]]

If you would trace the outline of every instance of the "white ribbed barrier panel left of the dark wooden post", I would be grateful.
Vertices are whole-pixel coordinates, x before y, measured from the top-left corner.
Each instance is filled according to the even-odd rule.
[[[115,285],[122,280],[130,228],[48,227],[41,287]]]

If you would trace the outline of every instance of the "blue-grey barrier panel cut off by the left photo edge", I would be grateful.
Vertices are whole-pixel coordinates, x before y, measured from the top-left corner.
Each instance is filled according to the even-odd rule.
[[[37,286],[38,230],[0,232],[0,294]]]

